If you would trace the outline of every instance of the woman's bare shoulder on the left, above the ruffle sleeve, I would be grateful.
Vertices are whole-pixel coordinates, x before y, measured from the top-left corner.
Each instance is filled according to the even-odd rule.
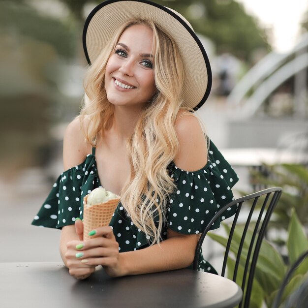
[[[81,128],[80,117],[75,118],[65,129],[63,139],[64,170],[82,163],[87,154],[91,153],[91,145]]]

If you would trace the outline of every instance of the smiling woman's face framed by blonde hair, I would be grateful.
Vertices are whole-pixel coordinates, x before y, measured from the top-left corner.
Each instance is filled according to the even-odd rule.
[[[107,99],[116,106],[143,106],[156,91],[153,71],[153,31],[133,25],[121,35],[105,74]]]

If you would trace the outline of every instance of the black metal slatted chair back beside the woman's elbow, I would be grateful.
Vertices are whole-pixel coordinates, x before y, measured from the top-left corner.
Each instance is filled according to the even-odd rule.
[[[242,253],[242,249],[244,246],[244,242],[245,242],[245,238],[246,238],[246,233],[248,230],[248,226],[251,220],[251,216],[253,214],[253,211],[258,203],[258,200],[261,196],[265,196],[265,200],[263,201],[262,207],[260,209],[260,213],[258,216],[258,219],[256,221],[254,230],[253,230],[253,234],[252,234],[252,238],[251,238],[251,242],[248,248],[248,253],[247,253],[247,259],[246,259],[246,263],[245,263],[245,270],[244,270],[244,276],[243,276],[243,281],[242,281],[242,290],[243,290],[243,296],[244,296],[244,291],[245,291],[245,284],[246,284],[246,276],[247,276],[247,272],[248,272],[248,268],[249,268],[249,261],[250,261],[250,257],[251,257],[251,253],[252,253],[252,249],[254,246],[254,242],[256,239],[256,236],[258,234],[257,237],[257,241],[254,247],[254,251],[252,254],[252,260],[251,260],[251,264],[250,264],[250,269],[249,269],[249,276],[248,276],[248,281],[247,281],[247,285],[246,285],[246,295],[245,295],[245,300],[243,299],[241,301],[241,303],[239,304],[239,308],[242,307],[242,304],[244,302],[244,308],[248,308],[249,307],[249,301],[250,301],[250,295],[251,295],[251,290],[252,290],[252,284],[253,284],[253,277],[254,277],[254,273],[255,273],[255,268],[256,268],[256,264],[257,264],[257,260],[258,260],[258,256],[259,256],[259,252],[260,252],[260,248],[261,248],[261,244],[262,244],[262,240],[264,238],[265,232],[266,232],[266,228],[267,225],[270,221],[270,217],[277,205],[277,202],[281,196],[282,193],[282,188],[281,187],[271,187],[271,188],[267,188],[249,195],[246,195],[244,197],[238,198],[236,200],[233,200],[231,202],[229,202],[227,205],[225,205],[224,207],[222,207],[216,214],[215,216],[211,219],[211,221],[208,223],[208,225],[206,226],[205,230],[202,232],[200,239],[198,241],[198,244],[196,246],[196,250],[195,250],[195,258],[193,261],[193,270],[197,270],[198,269],[198,260],[199,260],[199,255],[200,255],[200,251],[201,251],[201,246],[202,243],[204,241],[205,236],[207,235],[208,231],[210,230],[210,228],[212,227],[212,224],[216,221],[216,219],[221,216],[229,207],[237,205],[237,211],[236,214],[233,218],[233,223],[231,226],[231,230],[230,230],[230,234],[229,234],[229,238],[228,238],[228,242],[227,242],[227,246],[226,246],[226,250],[224,253],[224,259],[223,259],[223,264],[222,264],[222,271],[221,271],[221,276],[225,276],[225,270],[226,270],[226,265],[227,265],[227,259],[228,259],[228,255],[229,255],[229,250],[230,250],[230,246],[231,246],[231,242],[232,242],[232,238],[233,238],[233,234],[234,234],[234,229],[235,226],[237,224],[237,220],[241,211],[241,208],[243,206],[243,204],[246,201],[250,201],[253,200],[253,204],[251,206],[251,209],[249,211],[249,215],[247,217],[247,221],[245,224],[245,228],[243,231],[243,236],[241,239],[241,243],[239,246],[239,250],[236,256],[236,263],[235,263],[235,267],[234,267],[234,273],[233,273],[233,281],[236,281],[236,277],[238,274],[238,269],[239,269],[239,264],[240,264],[240,258],[241,258],[241,253]],[[262,220],[262,216],[263,213],[266,210],[266,214]],[[260,225],[261,223],[261,225]],[[260,228],[259,228],[260,226]],[[259,231],[258,231],[259,230]]]

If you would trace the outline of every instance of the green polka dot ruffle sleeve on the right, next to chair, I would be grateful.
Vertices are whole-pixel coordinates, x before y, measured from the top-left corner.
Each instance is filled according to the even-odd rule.
[[[176,191],[170,196],[167,210],[169,228],[183,234],[201,233],[217,210],[234,200],[231,188],[238,181],[238,176],[212,141],[208,162],[202,169],[184,171],[173,162],[169,167],[177,185]],[[236,206],[229,208],[211,229],[218,228],[221,220],[235,212]]]

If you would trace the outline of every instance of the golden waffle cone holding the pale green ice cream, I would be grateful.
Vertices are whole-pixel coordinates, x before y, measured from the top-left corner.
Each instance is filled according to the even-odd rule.
[[[89,232],[95,228],[108,226],[120,198],[87,206],[87,196],[84,197],[84,241],[89,240]],[[91,237],[93,238],[93,237]]]

